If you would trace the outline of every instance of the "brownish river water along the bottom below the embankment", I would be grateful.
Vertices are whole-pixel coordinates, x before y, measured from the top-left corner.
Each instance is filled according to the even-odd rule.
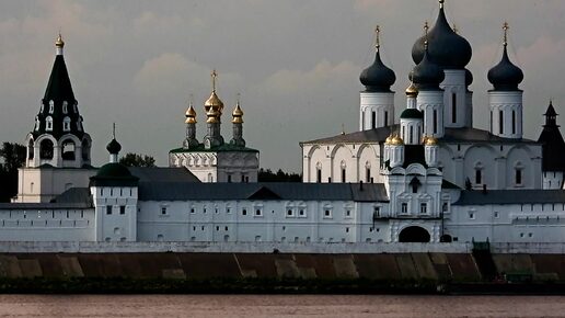
[[[565,317],[565,297],[0,295],[0,317]]]

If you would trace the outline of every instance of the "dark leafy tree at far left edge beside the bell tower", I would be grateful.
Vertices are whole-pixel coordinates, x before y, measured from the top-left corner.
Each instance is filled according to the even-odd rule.
[[[18,194],[18,169],[25,162],[25,146],[3,143],[0,158],[0,202],[10,202]]]

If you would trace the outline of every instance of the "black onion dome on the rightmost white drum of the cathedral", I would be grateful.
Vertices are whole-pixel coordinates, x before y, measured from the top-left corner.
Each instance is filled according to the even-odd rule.
[[[522,80],[523,72],[510,61],[505,45],[503,59],[488,71],[488,81],[493,84],[495,91],[517,91],[519,90],[518,84]]]

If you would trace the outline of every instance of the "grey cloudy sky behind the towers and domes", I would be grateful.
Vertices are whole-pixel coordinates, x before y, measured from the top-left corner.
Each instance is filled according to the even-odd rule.
[[[0,140],[23,143],[33,128],[60,31],[94,166],[107,161],[113,123],[122,155],[166,166],[185,137],[191,95],[201,140],[216,69],[224,138],[240,93],[244,138],[261,150],[261,167],[295,172],[300,141],[358,129],[359,73],[374,58],[376,25],[396,73],[397,121],[412,45],[439,10],[437,0],[21,0],[1,8]],[[524,137],[538,138],[550,99],[564,124],[565,2],[446,0],[446,12],[473,47],[475,127],[488,127],[486,73],[500,59],[504,21],[510,59],[524,72]]]

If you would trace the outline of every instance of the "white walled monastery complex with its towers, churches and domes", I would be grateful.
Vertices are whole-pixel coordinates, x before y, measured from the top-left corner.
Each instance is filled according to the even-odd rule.
[[[489,130],[473,128],[472,48],[440,0],[435,25],[414,44],[400,120],[396,77],[377,41],[360,77],[359,132],[301,143],[302,183],[257,182],[239,102],[224,141],[216,72],[207,134],[196,138],[191,104],[170,167],[120,164],[114,138],[109,162],[93,168],[59,36],[18,197],[0,204],[0,241],[564,242],[565,141],[552,104],[539,140],[523,138],[523,73],[508,57],[507,30],[488,72]]]

